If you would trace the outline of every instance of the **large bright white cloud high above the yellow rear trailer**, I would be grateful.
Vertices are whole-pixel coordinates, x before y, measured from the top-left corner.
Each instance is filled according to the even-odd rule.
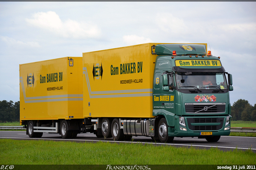
[[[38,12],[33,15],[33,18],[26,21],[65,38],[95,38],[100,35],[100,29],[96,25],[70,19],[62,22],[56,12]]]

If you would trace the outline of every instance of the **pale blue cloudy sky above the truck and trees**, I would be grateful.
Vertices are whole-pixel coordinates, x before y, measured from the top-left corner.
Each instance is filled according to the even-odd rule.
[[[232,74],[230,103],[256,103],[256,2],[0,2],[0,101],[19,64],[141,43],[208,43]]]

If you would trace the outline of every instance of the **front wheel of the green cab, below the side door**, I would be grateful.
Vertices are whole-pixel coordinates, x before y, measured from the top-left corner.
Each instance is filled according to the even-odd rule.
[[[158,138],[161,142],[172,142],[174,137],[168,136],[168,125],[165,118],[160,119],[158,123]]]

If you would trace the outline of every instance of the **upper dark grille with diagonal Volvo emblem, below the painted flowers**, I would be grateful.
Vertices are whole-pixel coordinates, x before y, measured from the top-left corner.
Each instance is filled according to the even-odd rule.
[[[224,113],[226,103],[185,103],[186,113]]]

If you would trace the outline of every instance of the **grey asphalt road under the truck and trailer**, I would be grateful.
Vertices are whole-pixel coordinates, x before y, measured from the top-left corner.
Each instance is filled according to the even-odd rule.
[[[1,138],[10,138],[14,140],[65,140],[73,142],[98,142],[98,141],[108,141],[108,142],[132,142],[132,143],[153,143],[156,145],[169,145],[176,147],[194,147],[199,149],[209,149],[209,148],[219,148],[220,150],[252,150],[256,153],[256,137],[237,137],[237,136],[221,136],[218,142],[207,142],[205,139],[198,139],[197,137],[175,137],[172,143],[160,143],[155,142],[150,137],[145,136],[133,136],[131,141],[114,141],[113,138],[97,138],[94,134],[81,133],[78,134],[75,139],[62,139],[59,134],[56,133],[44,133],[42,138],[29,138],[26,135],[26,131],[0,131]]]

